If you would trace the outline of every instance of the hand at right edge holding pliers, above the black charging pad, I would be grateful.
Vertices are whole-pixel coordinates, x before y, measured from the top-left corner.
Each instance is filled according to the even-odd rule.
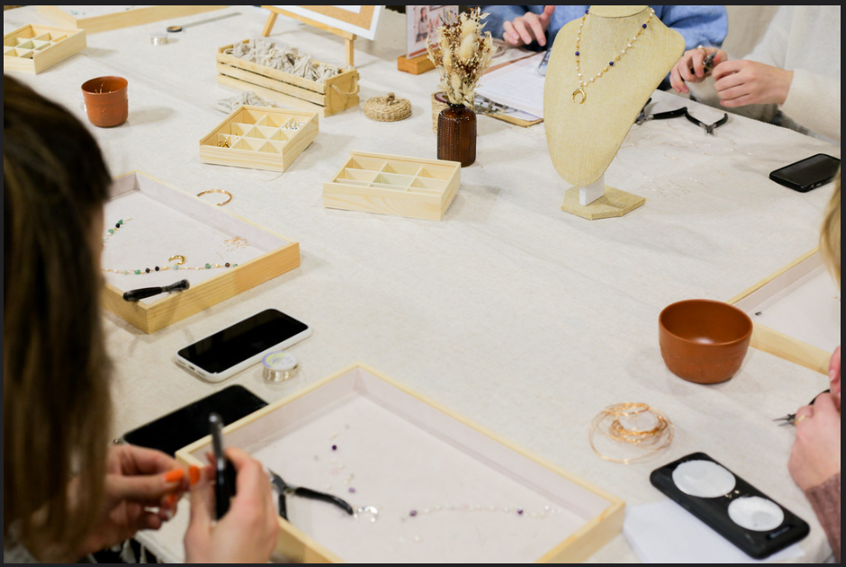
[[[840,411],[832,394],[820,394],[813,406],[799,408],[796,428],[788,471],[807,491],[840,473]]]

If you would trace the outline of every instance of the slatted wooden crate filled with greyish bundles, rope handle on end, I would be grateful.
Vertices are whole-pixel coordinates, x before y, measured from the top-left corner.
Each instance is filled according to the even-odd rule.
[[[357,106],[358,71],[310,58],[271,40],[243,40],[218,49],[218,82],[305,111],[331,116]]]

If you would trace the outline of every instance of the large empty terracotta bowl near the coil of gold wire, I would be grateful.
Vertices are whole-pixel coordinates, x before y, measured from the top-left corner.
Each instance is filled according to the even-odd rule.
[[[664,308],[658,317],[661,356],[673,374],[690,382],[725,382],[740,369],[752,320],[733,305],[687,300]]]

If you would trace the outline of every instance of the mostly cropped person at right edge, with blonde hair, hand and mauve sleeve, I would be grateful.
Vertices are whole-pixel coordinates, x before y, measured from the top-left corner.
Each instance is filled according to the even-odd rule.
[[[837,280],[838,287],[841,283],[840,187],[838,174],[820,235],[820,253]],[[790,452],[788,470],[799,488],[805,491],[825,530],[834,556],[840,562],[840,347],[832,356],[829,380],[831,393],[820,394],[814,405],[797,410],[797,438]]]

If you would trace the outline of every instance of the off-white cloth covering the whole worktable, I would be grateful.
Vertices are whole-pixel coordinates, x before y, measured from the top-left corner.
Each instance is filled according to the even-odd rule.
[[[258,367],[210,384],[172,360],[194,339],[276,307],[314,329],[292,350],[302,384],[362,361],[630,505],[663,499],[648,480],[655,466],[704,451],[809,522],[806,561],[830,554],[788,475],[794,430],[771,421],[824,390],[826,377],[751,349],[729,382],[685,382],[662,362],[657,320],[671,302],[725,301],[815,247],[833,186],[796,193],[768,174],[817,152],[840,157],[839,147],[734,116],[714,136],[682,119],[647,122],[633,127],[606,174],[646,204],[589,221],[560,210],[569,185],[555,173],[543,124],[524,129],[480,116],[476,163],[462,170],[444,220],[329,210],[322,184],[350,150],[436,157],[429,96],[437,75],[397,71],[404,19],[388,12],[377,40],[356,42],[362,104],[321,120],[320,135],[288,171],[203,164],[199,139],[224,117],[214,105],[237,94],[217,83],[215,50],[257,37],[266,15],[238,6],[91,34],[76,56],[37,76],[16,75],[83,121],[79,85],[126,77],[129,121],[91,127],[112,174],[139,170],[190,194],[228,190],[228,211],[302,248],[299,269],[155,334],[104,316],[115,437],[230,383],[266,401],[290,393],[262,383]],[[26,23],[54,24],[34,6],[4,13],[4,32]],[[168,45],[150,43],[151,32],[174,23],[198,24],[171,34]],[[343,40],[327,32],[280,18],[272,39],[343,62]],[[365,117],[365,101],[388,92],[410,99],[410,119]],[[687,103],[702,121],[722,115],[674,94],[653,101],[657,111]],[[657,464],[615,464],[591,451],[590,420],[622,401],[647,402],[675,424]],[[181,536],[159,541],[178,547]],[[637,556],[620,535],[590,561]]]

